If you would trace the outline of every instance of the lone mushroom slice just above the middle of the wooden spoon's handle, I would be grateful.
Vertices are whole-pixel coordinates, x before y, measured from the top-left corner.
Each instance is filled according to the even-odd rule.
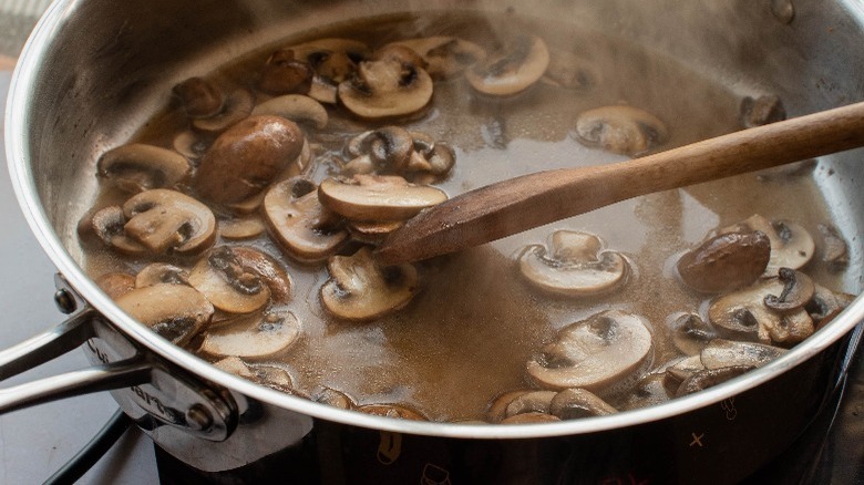
[[[588,110],[576,120],[576,137],[621,155],[636,156],[668,138],[666,124],[638,107],[617,105]]]

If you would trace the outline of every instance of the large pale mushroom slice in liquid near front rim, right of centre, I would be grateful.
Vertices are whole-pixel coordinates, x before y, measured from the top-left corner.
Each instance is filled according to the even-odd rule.
[[[528,375],[552,389],[614,394],[635,383],[654,343],[641,318],[608,310],[565,327],[528,361]]]

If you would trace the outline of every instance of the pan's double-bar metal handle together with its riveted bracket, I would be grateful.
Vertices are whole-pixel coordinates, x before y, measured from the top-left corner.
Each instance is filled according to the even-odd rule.
[[[54,300],[64,322],[0,351],[0,382],[76,348],[94,365],[0,389],[0,414],[23,407],[112,391],[123,411],[145,432],[181,429],[208,441],[224,441],[237,426],[232,393],[167,362],[134,343],[90,306],[58,275]]]

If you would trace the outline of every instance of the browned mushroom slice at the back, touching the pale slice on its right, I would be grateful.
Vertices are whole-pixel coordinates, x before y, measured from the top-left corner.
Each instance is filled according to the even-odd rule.
[[[389,45],[403,45],[420,54],[433,79],[449,79],[482,61],[486,52],[480,45],[448,35],[407,39]]]

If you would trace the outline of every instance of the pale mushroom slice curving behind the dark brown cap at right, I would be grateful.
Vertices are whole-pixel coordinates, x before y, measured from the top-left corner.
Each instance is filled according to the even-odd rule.
[[[753,215],[721,233],[739,230],[759,230],[771,240],[771,259],[764,276],[775,276],[780,268],[800,269],[815,252],[815,242],[810,233],[798,224],[785,220],[770,221],[760,215]]]

